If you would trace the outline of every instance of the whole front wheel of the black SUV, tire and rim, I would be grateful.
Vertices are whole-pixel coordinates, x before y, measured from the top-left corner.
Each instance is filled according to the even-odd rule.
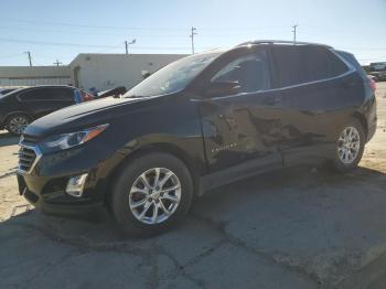
[[[159,185],[154,185],[157,170],[159,170]],[[173,175],[170,176],[171,173]],[[161,185],[167,175],[169,179],[167,178],[167,182]],[[179,190],[162,193],[162,190],[179,188]],[[167,232],[180,223],[190,210],[192,197],[193,181],[185,164],[172,154],[151,152],[135,159],[121,170],[112,188],[109,205],[124,233],[148,237]],[[179,203],[175,202],[178,199]],[[136,205],[138,206],[135,207]]]

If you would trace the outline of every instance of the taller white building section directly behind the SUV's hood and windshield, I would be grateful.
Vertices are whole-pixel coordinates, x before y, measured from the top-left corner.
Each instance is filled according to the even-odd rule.
[[[77,55],[69,64],[72,84],[86,90],[106,90],[117,86],[127,89],[185,54],[96,54]]]

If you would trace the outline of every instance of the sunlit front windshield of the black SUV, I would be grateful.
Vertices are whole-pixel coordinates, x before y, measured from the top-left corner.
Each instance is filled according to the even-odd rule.
[[[180,92],[219,54],[216,51],[178,60],[143,79],[124,97],[148,97]]]

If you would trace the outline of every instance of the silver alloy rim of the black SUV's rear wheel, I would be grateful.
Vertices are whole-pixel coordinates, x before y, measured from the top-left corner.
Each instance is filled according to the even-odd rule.
[[[345,164],[355,161],[361,150],[361,137],[355,127],[346,127],[337,140],[337,156]]]

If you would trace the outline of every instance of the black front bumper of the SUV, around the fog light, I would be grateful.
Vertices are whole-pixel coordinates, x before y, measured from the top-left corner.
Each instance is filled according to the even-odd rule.
[[[31,161],[33,164],[29,170],[21,170],[19,163],[19,192],[43,213],[77,215],[96,212],[106,204],[108,176],[119,162],[115,156],[101,159],[103,156],[106,154],[98,147],[82,147],[42,154],[37,162]],[[88,175],[82,196],[67,194],[68,180],[84,173]]]

